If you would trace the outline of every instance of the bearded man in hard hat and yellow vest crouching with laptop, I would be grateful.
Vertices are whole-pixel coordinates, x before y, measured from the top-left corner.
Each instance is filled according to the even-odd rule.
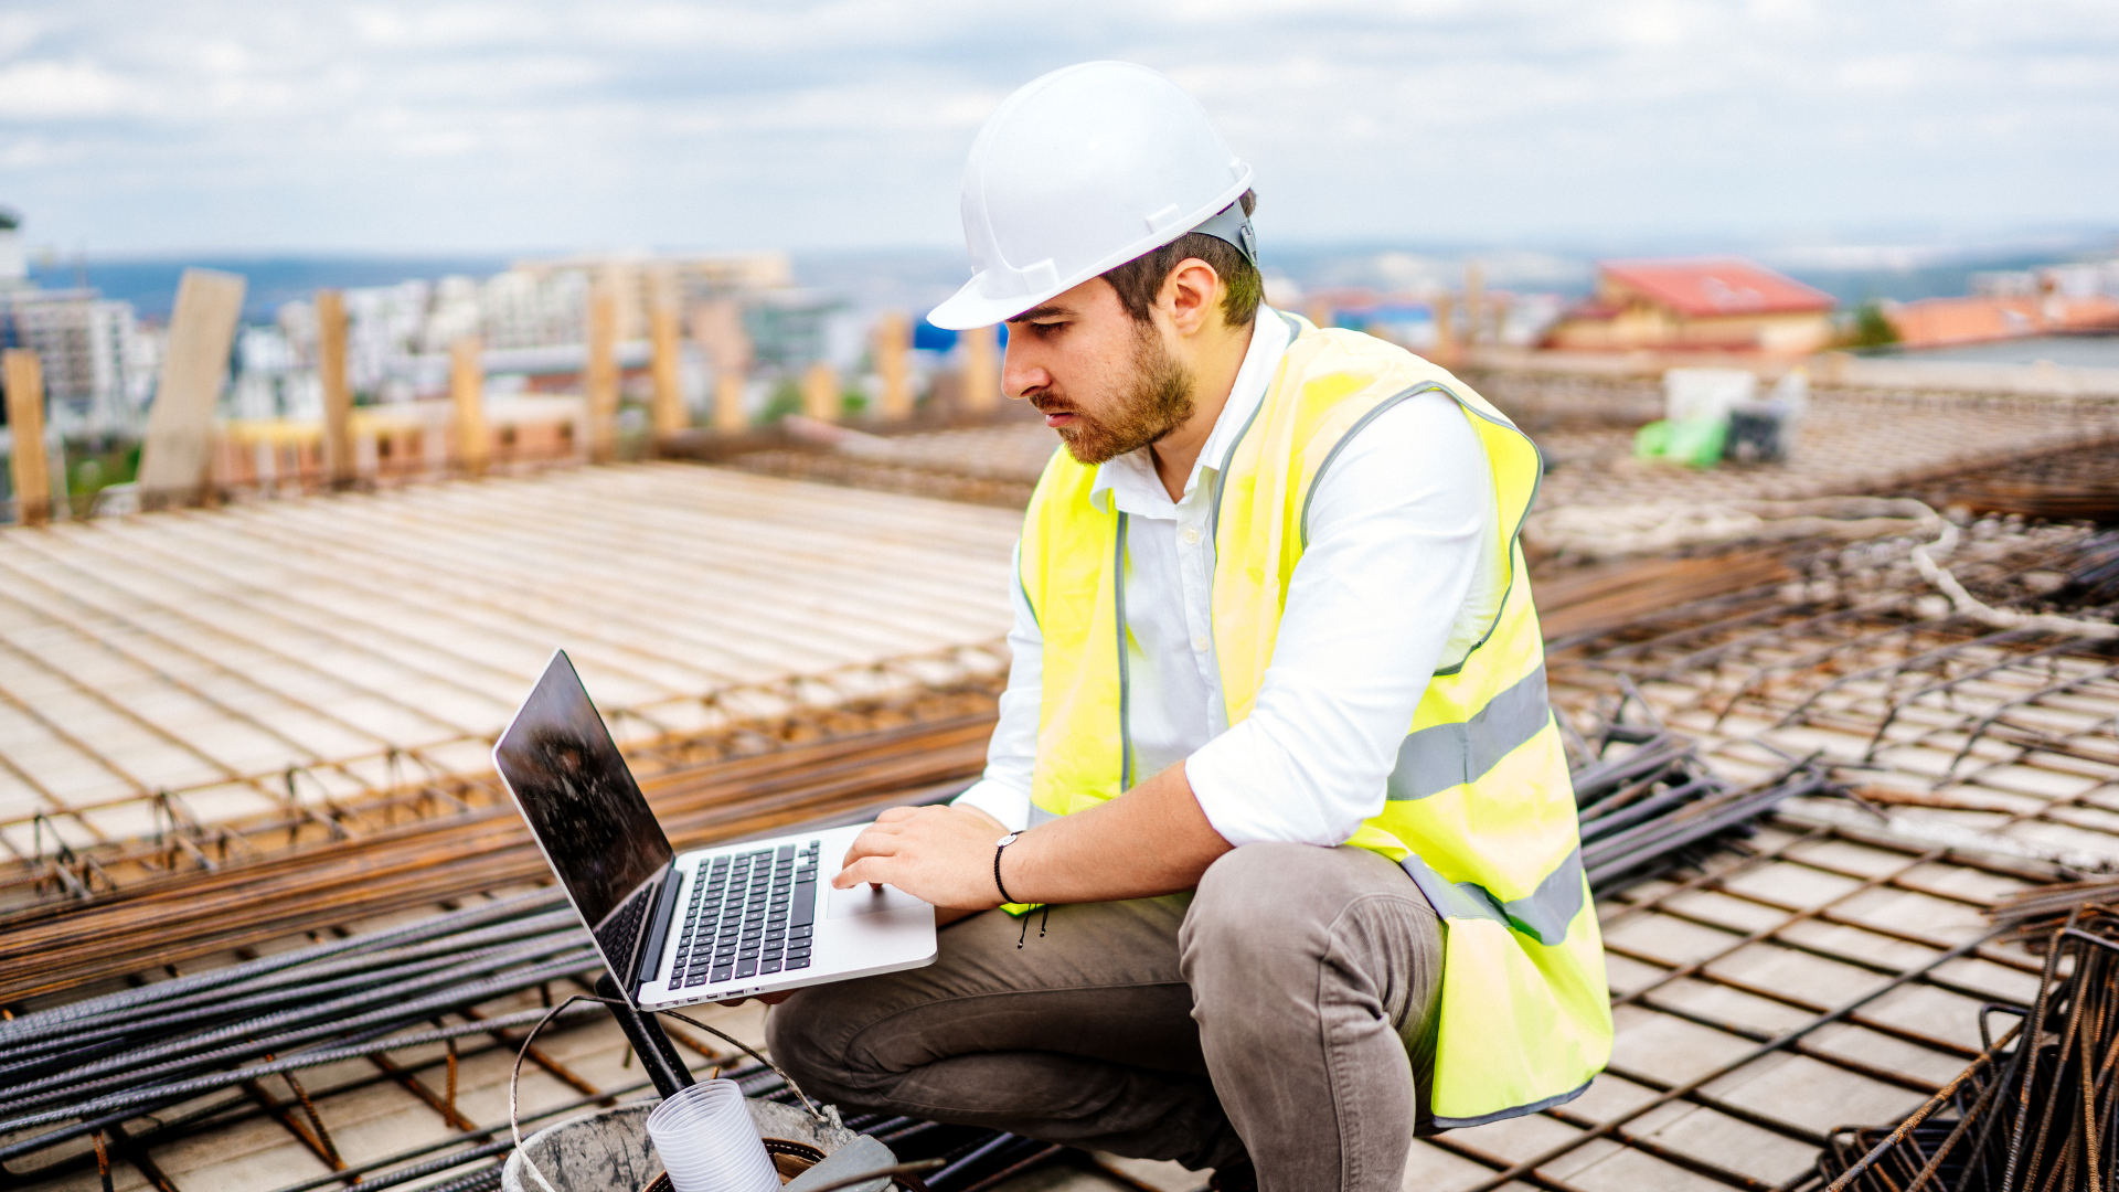
[[[939,961],[767,1035],[865,1109],[1394,1190],[1418,1130],[1610,1052],[1515,547],[1541,464],[1443,369],[1261,308],[1252,204],[1138,66],[1047,74],[973,144],[975,276],[930,318],[1007,320],[1004,390],[1064,443],[1015,664],[985,781],[839,876],[945,908]]]

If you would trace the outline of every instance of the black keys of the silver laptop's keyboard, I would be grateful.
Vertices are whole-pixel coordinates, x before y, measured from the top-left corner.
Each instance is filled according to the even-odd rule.
[[[699,865],[670,988],[809,967],[820,842],[731,853]]]

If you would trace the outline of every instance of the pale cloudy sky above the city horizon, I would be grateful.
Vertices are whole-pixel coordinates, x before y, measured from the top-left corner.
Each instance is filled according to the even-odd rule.
[[[949,246],[985,115],[1096,57],[1199,98],[1265,240],[2119,229],[2113,0],[8,0],[0,204],[102,257]]]

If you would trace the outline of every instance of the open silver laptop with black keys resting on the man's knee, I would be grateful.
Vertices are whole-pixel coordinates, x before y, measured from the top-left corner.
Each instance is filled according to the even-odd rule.
[[[566,651],[494,744],[559,889],[642,1010],[934,963],[934,908],[831,889],[867,823],[676,853]]]

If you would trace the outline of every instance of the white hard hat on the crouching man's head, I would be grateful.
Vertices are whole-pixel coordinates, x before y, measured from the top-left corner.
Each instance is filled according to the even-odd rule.
[[[1187,231],[1252,257],[1248,225],[1237,240],[1214,221],[1248,189],[1250,165],[1176,83],[1129,62],[1053,70],[1009,95],[971,142],[971,282],[928,322],[964,331],[1015,318]]]

